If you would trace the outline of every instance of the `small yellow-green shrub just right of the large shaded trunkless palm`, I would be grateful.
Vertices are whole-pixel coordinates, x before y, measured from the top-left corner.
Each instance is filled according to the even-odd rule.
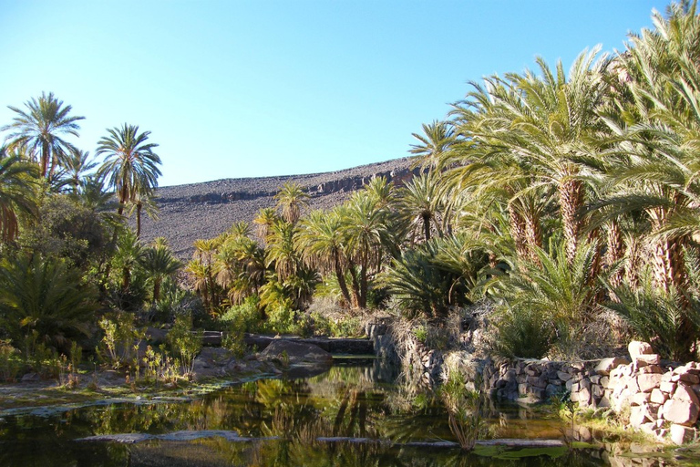
[[[136,327],[133,314],[118,311],[98,322],[104,336],[98,346],[98,355],[112,368],[123,368],[137,358],[140,341],[146,330]]]

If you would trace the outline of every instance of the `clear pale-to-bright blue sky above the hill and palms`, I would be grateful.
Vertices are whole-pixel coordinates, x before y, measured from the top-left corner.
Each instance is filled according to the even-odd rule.
[[[341,170],[406,156],[468,81],[622,49],[667,4],[0,0],[0,125],[53,91],[83,150],[150,130],[161,186]]]

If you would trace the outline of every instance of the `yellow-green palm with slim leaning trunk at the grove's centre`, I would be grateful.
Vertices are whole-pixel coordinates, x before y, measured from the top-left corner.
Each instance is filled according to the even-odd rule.
[[[313,211],[300,223],[294,239],[306,265],[320,273],[334,272],[346,304],[351,304],[345,283],[347,259],[344,249],[343,221],[339,209],[330,212]]]

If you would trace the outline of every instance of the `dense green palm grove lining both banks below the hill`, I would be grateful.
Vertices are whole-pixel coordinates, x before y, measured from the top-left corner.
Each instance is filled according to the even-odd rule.
[[[694,358],[695,8],[654,13],[654,30],[614,56],[593,48],[569,70],[538,59],[471,83],[446,119],[414,135],[420,171],[404,186],[376,178],[309,211],[303,187],[285,184],[275,208],[198,240],[184,265],[163,239],[139,240],[160,175],[148,131],[107,130],[98,164],[65,140],[82,117],[53,94],[10,107],[0,337],[26,354],[67,352],[99,340],[107,328],[96,323],[115,313],[188,316],[239,336],[353,334],[362,310],[448,326],[479,302],[492,309],[489,345],[500,355],[582,358],[641,337],[664,357]],[[340,319],[312,313],[320,301]]]

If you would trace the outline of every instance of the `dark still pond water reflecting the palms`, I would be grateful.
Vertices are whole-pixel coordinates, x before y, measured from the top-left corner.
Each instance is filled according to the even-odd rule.
[[[588,466],[610,462],[611,454],[604,448],[478,446],[463,452],[406,446],[411,441],[455,438],[438,398],[394,384],[395,379],[396,374],[376,362],[336,365],[323,375],[261,379],[196,400],[150,400],[44,416],[6,416],[0,419],[0,465]],[[561,421],[542,410],[493,403],[485,410],[496,437],[561,439]],[[221,437],[134,444],[77,441],[95,435],[176,431],[235,431],[248,441]],[[355,442],[320,441],[322,437]],[[617,465],[634,464],[632,458],[620,459]],[[655,459],[644,465],[675,465],[664,462],[671,460]]]

